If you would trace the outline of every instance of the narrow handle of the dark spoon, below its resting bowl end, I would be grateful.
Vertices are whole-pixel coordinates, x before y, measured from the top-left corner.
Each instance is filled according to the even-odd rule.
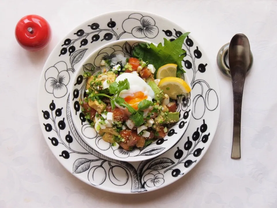
[[[233,102],[234,102],[234,123],[233,123],[233,146],[232,159],[240,159],[240,123],[242,117],[242,93],[244,79],[232,80],[233,85]]]

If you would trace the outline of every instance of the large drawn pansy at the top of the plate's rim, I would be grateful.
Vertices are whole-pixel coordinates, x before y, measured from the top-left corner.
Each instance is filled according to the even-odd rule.
[[[134,13],[124,20],[122,28],[136,38],[155,38],[159,33],[159,29],[155,24],[152,17]]]

